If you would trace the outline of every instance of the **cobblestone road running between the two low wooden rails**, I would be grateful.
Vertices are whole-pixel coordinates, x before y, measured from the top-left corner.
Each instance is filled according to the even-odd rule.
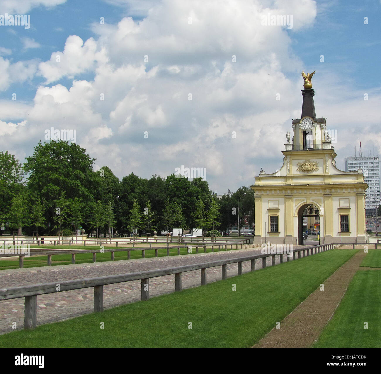
[[[296,249],[298,247],[294,247]],[[0,288],[16,287],[28,284],[61,282],[63,280],[100,277],[144,270],[163,269],[174,266],[199,264],[217,259],[229,259],[260,253],[260,248],[238,249],[202,254],[186,254],[170,257],[122,260],[54,267],[0,270]],[[276,264],[279,256],[275,257]],[[283,255],[283,261],[287,259]],[[292,261],[292,257],[290,259]],[[243,272],[250,272],[250,261],[243,262]],[[267,257],[266,266],[271,266],[271,257]],[[262,268],[262,259],[256,260],[256,269]],[[237,275],[237,264],[227,265],[227,277]],[[207,269],[207,282],[221,280],[221,267]],[[150,278],[150,297],[174,292],[174,275]],[[200,270],[182,273],[182,288],[200,285]],[[84,288],[72,291],[56,292],[37,296],[37,324],[50,323],[92,313],[94,308],[94,289]],[[104,286],[104,309],[140,300],[141,281],[130,281]],[[0,334],[24,328],[24,298],[0,301]]]

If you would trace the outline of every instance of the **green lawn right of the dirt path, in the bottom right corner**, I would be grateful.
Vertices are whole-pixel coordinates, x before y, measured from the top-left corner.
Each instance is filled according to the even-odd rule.
[[[381,270],[356,272],[314,347],[381,347]],[[368,322],[368,329],[364,329]]]

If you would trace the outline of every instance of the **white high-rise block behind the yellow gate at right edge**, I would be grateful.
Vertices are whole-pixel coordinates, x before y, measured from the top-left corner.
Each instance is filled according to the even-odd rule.
[[[365,214],[375,215],[377,207],[381,204],[378,156],[346,157],[344,164],[345,171],[362,169],[364,181],[369,186],[365,191]]]

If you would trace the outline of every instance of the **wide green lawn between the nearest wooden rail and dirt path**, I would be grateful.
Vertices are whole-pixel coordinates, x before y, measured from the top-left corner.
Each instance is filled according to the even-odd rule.
[[[0,336],[0,347],[250,347],[356,252],[334,249],[33,331],[10,332]]]

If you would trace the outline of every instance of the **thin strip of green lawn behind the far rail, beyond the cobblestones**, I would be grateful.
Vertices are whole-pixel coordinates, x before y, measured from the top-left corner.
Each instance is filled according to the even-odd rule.
[[[69,249],[99,249],[99,246],[66,246]],[[229,247],[229,246],[228,246]],[[66,249],[67,249],[66,248]],[[112,249],[113,247],[105,247],[105,249]],[[114,247],[116,248],[116,247]],[[120,248],[120,247],[119,247]],[[127,247],[126,247],[127,248]],[[132,248],[132,247],[131,247]],[[239,247],[240,249],[240,247]],[[223,248],[223,251],[225,249]],[[227,248],[227,250],[235,250]],[[199,248],[199,253],[203,253],[204,249]],[[218,246],[214,248],[214,251],[218,251]],[[207,248],[207,253],[211,252],[211,247]],[[193,246],[192,253],[196,253],[196,248]],[[177,256],[177,248],[170,249],[170,256]],[[180,254],[187,254],[187,248],[181,248]],[[154,249],[146,249],[145,256],[147,257],[155,257]],[[158,249],[158,257],[166,256],[166,248]],[[131,259],[141,259],[142,251],[131,251]],[[127,260],[127,252],[115,252],[115,261],[116,260]],[[71,254],[56,254],[51,256],[52,265],[69,265],[71,264]],[[96,262],[102,261],[111,261],[111,253],[97,253],[96,254]],[[75,254],[75,263],[76,264],[85,264],[86,262],[93,262],[93,254],[91,252],[87,253],[77,253]],[[48,256],[31,256],[24,257],[24,267],[39,267],[39,266],[48,266]],[[0,261],[0,270],[2,269],[18,269],[19,268],[19,257],[14,257],[14,260],[1,260]]]

